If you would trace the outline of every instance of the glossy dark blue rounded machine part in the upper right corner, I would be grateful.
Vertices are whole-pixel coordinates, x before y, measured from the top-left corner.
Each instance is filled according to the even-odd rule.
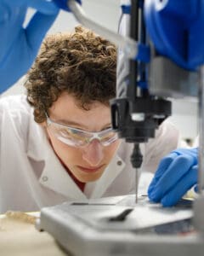
[[[188,70],[203,64],[203,0],[145,0],[144,20],[160,55]]]

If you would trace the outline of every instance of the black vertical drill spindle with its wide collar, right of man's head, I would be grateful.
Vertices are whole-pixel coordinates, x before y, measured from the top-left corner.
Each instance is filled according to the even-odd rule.
[[[141,3],[131,1],[130,38],[149,44]],[[139,86],[148,84],[146,63],[127,60],[125,56],[121,62],[127,71],[117,81],[117,98],[111,100],[112,126],[127,143],[146,143],[150,137],[155,137],[161,122],[171,115],[171,102],[151,96],[148,87]]]

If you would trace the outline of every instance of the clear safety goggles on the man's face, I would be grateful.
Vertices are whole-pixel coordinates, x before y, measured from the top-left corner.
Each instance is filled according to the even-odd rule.
[[[72,128],[68,125],[59,124],[51,120],[47,116],[48,127],[52,129],[52,133],[59,139],[60,142],[69,146],[82,147],[91,143],[94,139],[99,140],[103,146],[109,146],[111,143],[116,142],[118,138],[115,131],[111,128],[99,132],[83,131],[81,129]]]

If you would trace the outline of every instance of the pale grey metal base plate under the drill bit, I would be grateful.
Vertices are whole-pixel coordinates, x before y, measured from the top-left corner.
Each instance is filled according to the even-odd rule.
[[[195,247],[196,255],[203,255],[204,241],[193,228],[189,203],[163,208],[145,196],[138,204],[134,200],[135,195],[126,195],[43,208],[37,229],[77,256],[186,256]]]

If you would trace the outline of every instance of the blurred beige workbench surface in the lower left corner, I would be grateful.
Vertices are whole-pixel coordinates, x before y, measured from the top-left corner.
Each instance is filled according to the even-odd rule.
[[[0,216],[0,254],[3,256],[62,256],[68,255],[46,232],[24,219]]]

